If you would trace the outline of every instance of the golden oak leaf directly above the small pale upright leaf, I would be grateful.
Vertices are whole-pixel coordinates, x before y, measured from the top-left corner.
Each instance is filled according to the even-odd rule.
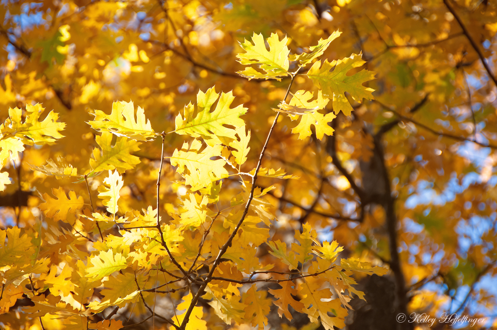
[[[126,169],[134,168],[140,163],[140,159],[131,153],[140,150],[139,142],[129,140],[125,137],[117,137],[116,143],[112,146],[112,133],[104,132],[101,136],[95,137],[96,143],[100,146],[93,149],[93,158],[90,159],[92,170],[88,176],[107,169],[117,169],[119,173]]]

